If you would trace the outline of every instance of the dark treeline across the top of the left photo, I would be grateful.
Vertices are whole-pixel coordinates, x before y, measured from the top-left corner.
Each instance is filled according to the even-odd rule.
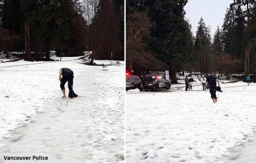
[[[124,60],[123,0],[0,0],[0,51]]]

